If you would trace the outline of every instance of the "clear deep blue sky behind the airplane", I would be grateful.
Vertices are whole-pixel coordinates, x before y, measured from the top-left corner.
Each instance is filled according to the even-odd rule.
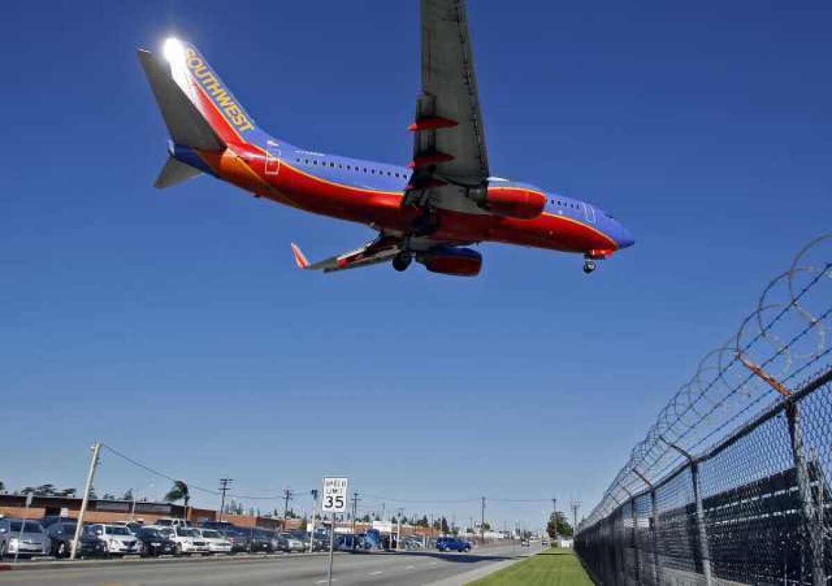
[[[135,49],[171,32],[274,135],[409,160],[415,1],[7,15],[0,480],[80,488],[98,438],[249,495],[339,472],[370,495],[472,499],[406,514],[467,520],[480,495],[588,512],[700,357],[829,229],[832,8],[511,8],[468,11],[491,168],[631,229],[636,246],[590,278],[578,257],[490,244],[476,279],[299,273],[290,241],[317,259],[372,234],[208,178],[151,188],[167,136]],[[97,488],[166,484],[105,454]],[[487,516],[547,510],[495,501]]]

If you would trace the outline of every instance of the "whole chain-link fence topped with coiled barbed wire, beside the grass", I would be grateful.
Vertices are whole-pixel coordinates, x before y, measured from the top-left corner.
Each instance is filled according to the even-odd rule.
[[[830,244],[765,288],[579,526],[598,584],[829,583]]]

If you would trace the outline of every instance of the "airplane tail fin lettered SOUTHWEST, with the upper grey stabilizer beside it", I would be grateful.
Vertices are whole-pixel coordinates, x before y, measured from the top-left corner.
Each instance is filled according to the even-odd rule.
[[[259,131],[254,119],[196,47],[191,43],[169,38],[162,53],[163,60],[144,51],[139,52],[139,58],[156,94],[156,100],[159,101],[162,116],[171,130],[171,137],[177,144],[204,148],[177,140],[169,118],[186,120],[192,132],[196,132],[196,126],[200,126],[198,134],[202,144],[214,146],[213,149],[205,150],[218,150],[218,144],[221,150],[228,144],[248,142],[249,138]],[[175,92],[174,89],[178,91]],[[172,94],[177,94],[176,98]],[[190,107],[180,103],[183,101]],[[194,114],[199,115],[201,122],[197,123]],[[213,142],[206,130],[210,130]],[[196,137],[187,135],[187,138]]]

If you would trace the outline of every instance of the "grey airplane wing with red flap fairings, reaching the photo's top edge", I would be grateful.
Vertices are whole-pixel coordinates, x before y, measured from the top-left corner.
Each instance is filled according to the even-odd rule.
[[[464,0],[421,0],[422,93],[416,103],[413,180],[404,204],[468,207],[488,186],[488,155]]]

